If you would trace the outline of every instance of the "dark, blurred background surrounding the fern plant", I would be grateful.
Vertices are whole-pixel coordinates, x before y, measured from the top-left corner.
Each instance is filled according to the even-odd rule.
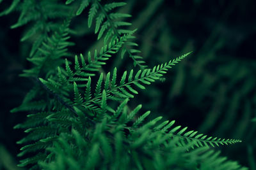
[[[177,120],[210,136],[241,139],[243,143],[221,146],[222,155],[237,160],[243,166],[256,169],[256,1],[164,1],[127,0],[120,12],[132,15],[130,29],[137,28],[136,42],[147,65],[168,62],[183,53],[189,57],[158,81],[141,90],[129,103],[131,108],[143,104],[151,117],[163,116]],[[0,4],[3,11],[10,2]],[[70,48],[74,53],[86,53],[101,43],[93,29],[88,29],[87,15],[75,18],[71,27],[76,32]],[[26,26],[10,29],[19,13],[0,17],[0,169],[20,169],[15,166],[24,133],[13,126],[24,121],[26,113],[10,113],[19,106],[31,81],[19,77],[30,67],[26,60],[30,41],[20,42]],[[103,67],[111,71],[131,69],[129,57],[115,57]],[[138,69],[138,68],[137,68]]]

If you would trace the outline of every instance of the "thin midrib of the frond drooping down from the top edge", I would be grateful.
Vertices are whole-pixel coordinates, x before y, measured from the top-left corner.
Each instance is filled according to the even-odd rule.
[[[116,30],[116,27],[114,26],[111,18],[109,18],[109,15],[108,13],[106,12],[106,10],[104,10],[104,7],[99,3],[99,1],[97,1],[97,4],[100,6],[100,10],[102,11],[102,13],[104,13],[104,15],[106,16],[107,20],[109,21],[109,24],[111,26],[111,28],[113,29],[113,31],[115,32],[116,36],[118,38],[120,38],[120,35],[118,34],[117,30]],[[136,64],[141,68],[141,69],[144,69],[145,66],[142,66],[136,59],[134,59],[131,51],[129,50],[129,48],[127,48],[126,45],[124,45],[124,48],[125,50],[127,50],[128,54],[129,54],[129,57],[132,58],[132,60],[134,60],[134,62],[136,62]]]

